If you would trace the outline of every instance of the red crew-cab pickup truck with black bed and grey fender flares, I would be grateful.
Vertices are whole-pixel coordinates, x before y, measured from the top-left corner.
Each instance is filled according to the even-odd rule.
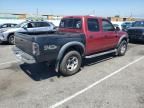
[[[57,72],[68,76],[77,73],[87,58],[109,53],[123,56],[128,35],[105,18],[67,16],[57,33],[17,32],[15,44],[14,52],[24,62],[54,64]]]

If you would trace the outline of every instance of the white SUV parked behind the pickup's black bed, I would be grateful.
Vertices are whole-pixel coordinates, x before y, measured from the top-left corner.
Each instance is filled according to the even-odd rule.
[[[24,21],[15,26],[15,28],[2,29],[0,31],[0,41],[7,41],[14,44],[14,33],[20,32],[55,32],[55,26],[47,21]]]

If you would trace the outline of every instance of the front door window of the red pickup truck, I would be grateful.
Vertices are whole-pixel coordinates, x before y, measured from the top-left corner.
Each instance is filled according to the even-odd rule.
[[[103,31],[115,31],[114,26],[108,20],[102,20]]]

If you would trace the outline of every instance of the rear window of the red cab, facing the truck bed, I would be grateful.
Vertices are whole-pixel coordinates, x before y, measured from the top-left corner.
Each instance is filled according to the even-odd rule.
[[[79,18],[66,18],[60,22],[60,28],[81,29],[82,21]]]

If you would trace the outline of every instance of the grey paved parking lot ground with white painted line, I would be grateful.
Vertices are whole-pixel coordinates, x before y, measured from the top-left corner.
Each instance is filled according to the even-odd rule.
[[[144,108],[144,44],[89,59],[70,77],[18,62],[12,47],[0,45],[0,108]]]

